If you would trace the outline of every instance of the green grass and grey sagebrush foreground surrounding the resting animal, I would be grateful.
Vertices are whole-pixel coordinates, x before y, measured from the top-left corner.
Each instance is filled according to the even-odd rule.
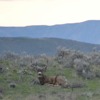
[[[37,71],[63,75],[69,87],[40,85]],[[2,100],[99,100],[100,52],[59,49],[55,56],[5,53],[0,56]]]

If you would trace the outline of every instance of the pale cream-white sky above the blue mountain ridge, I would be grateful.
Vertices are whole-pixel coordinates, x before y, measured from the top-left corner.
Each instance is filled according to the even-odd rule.
[[[0,26],[100,20],[100,0],[0,0]]]

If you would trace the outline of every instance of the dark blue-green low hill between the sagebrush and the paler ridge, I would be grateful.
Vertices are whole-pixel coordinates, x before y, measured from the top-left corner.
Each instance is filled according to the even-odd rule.
[[[32,55],[47,54],[54,55],[58,47],[90,52],[96,47],[100,50],[100,45],[83,43],[73,40],[59,38],[0,38],[0,53],[7,51]]]

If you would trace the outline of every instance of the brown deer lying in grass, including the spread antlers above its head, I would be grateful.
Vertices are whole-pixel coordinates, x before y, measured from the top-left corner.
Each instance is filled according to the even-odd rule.
[[[42,65],[42,64],[41,64]],[[38,80],[41,85],[51,84],[53,86],[67,86],[68,81],[62,75],[54,75],[54,76],[47,76],[44,72],[47,71],[47,65],[39,66],[38,63],[33,63],[31,67],[34,69],[35,72],[38,74]]]

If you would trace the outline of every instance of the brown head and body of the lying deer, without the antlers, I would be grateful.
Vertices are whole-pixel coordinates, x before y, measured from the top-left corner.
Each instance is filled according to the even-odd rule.
[[[38,72],[38,79],[40,81],[41,85],[44,84],[52,84],[52,85],[67,85],[67,79],[65,79],[65,77],[60,76],[60,75],[56,75],[56,76],[46,76],[44,75],[42,72]]]

